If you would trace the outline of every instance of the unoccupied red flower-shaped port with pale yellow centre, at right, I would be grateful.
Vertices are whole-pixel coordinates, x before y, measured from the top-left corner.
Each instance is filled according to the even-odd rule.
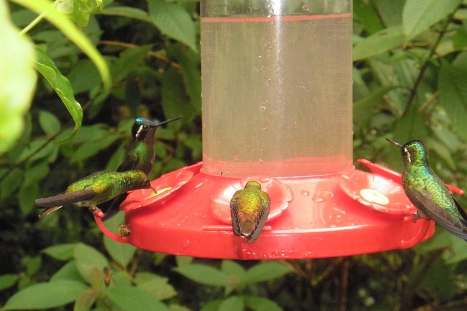
[[[361,204],[393,215],[412,215],[417,209],[404,189],[383,176],[353,170],[341,175],[341,190]]]

